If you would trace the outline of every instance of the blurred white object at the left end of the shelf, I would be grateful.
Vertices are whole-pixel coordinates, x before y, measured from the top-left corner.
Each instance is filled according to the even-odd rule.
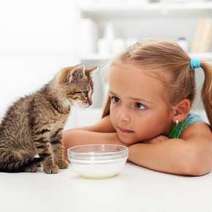
[[[96,53],[97,51],[97,37],[98,30],[96,23],[88,18],[80,20],[80,54],[86,56],[87,54]]]

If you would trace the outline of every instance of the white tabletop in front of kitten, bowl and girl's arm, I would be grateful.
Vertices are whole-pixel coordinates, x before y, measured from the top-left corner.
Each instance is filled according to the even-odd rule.
[[[212,174],[181,177],[127,164],[119,176],[91,180],[71,166],[56,175],[0,173],[2,212],[212,211]]]

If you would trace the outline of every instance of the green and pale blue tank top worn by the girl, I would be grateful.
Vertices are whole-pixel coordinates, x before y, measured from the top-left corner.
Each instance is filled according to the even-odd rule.
[[[200,115],[197,115],[195,113],[190,113],[187,118],[180,123],[176,124],[169,132],[168,137],[169,138],[180,138],[183,131],[190,126],[191,124],[203,122]]]

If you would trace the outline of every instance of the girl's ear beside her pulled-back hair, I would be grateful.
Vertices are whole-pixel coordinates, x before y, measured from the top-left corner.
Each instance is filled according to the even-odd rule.
[[[190,112],[190,109],[191,101],[189,99],[181,100],[177,105],[174,106],[173,122],[180,122],[186,119],[188,113]]]

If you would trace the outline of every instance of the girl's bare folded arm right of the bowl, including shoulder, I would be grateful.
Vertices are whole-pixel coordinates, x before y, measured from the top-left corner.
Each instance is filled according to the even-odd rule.
[[[155,142],[156,141],[156,142]],[[172,174],[199,176],[212,168],[212,133],[205,124],[193,124],[182,139],[138,143],[129,147],[129,161]]]

